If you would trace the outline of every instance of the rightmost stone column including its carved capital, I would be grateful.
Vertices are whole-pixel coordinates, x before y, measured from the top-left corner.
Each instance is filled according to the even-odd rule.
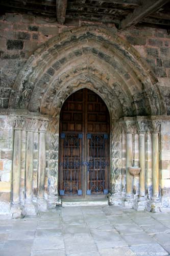
[[[160,121],[152,122],[152,184],[153,200],[159,200],[159,129]]]

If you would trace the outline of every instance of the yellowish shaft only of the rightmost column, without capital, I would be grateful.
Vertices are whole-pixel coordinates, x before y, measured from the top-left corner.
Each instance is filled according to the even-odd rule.
[[[153,197],[159,197],[159,135],[152,134],[152,182]]]

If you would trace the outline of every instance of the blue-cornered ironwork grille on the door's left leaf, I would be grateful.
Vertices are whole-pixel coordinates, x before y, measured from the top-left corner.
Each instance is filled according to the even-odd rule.
[[[61,134],[60,195],[82,195],[82,134]]]

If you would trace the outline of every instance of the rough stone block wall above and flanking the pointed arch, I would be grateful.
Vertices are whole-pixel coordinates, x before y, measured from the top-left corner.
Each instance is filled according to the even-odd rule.
[[[8,99],[15,78],[34,51],[45,42],[75,26],[88,25],[85,22],[77,22],[72,26],[61,26],[50,19],[42,19],[29,15],[15,15],[6,13],[0,19],[0,108],[8,108]],[[110,33],[116,31],[113,25]],[[117,32],[117,35],[127,39],[132,46],[147,60],[155,72],[160,90],[167,105],[167,113],[170,114],[170,36],[166,30],[154,28],[131,28]]]

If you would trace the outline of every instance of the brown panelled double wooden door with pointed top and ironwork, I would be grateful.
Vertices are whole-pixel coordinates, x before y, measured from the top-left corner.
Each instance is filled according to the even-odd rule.
[[[60,114],[60,196],[108,194],[109,133],[109,112],[101,97],[82,89],[67,98]]]

